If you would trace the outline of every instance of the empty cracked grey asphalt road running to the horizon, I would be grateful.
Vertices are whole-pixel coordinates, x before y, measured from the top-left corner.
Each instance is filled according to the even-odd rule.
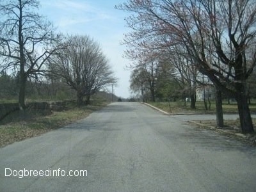
[[[140,103],[0,148],[0,191],[255,189],[255,148]]]

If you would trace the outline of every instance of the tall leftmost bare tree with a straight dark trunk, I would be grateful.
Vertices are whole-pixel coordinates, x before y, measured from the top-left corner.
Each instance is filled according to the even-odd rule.
[[[26,82],[29,77],[44,75],[45,61],[56,47],[51,22],[33,12],[36,0],[11,0],[0,3],[0,56],[2,68],[19,76],[19,106],[25,108]]]

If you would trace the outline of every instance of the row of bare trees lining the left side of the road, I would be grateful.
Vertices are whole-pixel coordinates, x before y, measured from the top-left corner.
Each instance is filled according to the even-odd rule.
[[[36,0],[0,2],[0,80],[6,81],[8,94],[17,95],[20,109],[26,108],[29,82],[65,83],[76,92],[78,106],[84,97],[88,104],[94,93],[116,84],[100,45],[88,35],[55,33],[53,24],[37,13],[39,7]]]

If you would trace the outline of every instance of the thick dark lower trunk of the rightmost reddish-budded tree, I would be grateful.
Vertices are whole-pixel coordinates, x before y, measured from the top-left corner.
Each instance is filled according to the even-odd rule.
[[[247,96],[241,93],[237,95],[236,100],[240,118],[241,131],[244,133],[254,132],[252,117],[247,102]]]

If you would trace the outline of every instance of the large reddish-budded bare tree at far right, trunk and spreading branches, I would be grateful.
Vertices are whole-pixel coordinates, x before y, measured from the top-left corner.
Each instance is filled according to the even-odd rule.
[[[242,131],[254,131],[245,88],[256,65],[254,0],[129,0],[117,8],[136,13],[127,19],[133,29],[125,36],[127,44],[150,49],[182,45],[191,65],[221,92],[236,98]],[[161,40],[163,36],[167,41]],[[216,59],[209,62],[207,54]]]

